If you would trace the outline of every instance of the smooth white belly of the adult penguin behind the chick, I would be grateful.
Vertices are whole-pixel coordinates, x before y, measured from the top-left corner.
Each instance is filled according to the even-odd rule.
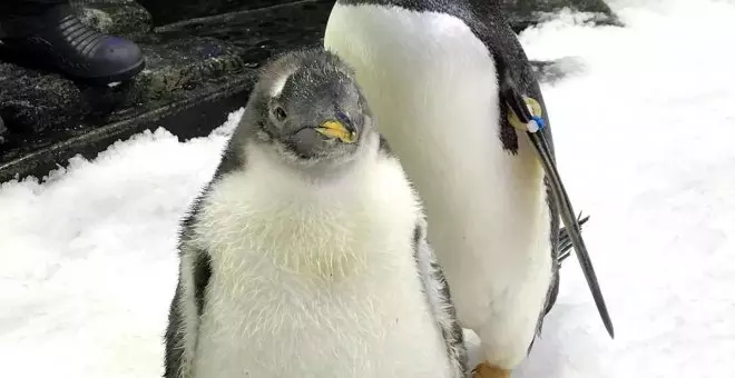
[[[460,19],[336,4],[325,47],[355,68],[381,132],[424,200],[462,325],[517,364],[551,278],[543,171],[503,150],[494,62]]]

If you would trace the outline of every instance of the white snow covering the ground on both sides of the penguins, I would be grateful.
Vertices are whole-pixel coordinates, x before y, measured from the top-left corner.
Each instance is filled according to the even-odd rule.
[[[627,28],[562,13],[521,40],[581,63],[543,93],[616,338],[571,258],[517,377],[734,377],[735,1],[610,4]],[[3,377],[160,376],[176,225],[239,116],[0,187]]]

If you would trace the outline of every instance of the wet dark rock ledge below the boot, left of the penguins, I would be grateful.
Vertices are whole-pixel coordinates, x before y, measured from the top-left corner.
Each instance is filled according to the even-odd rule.
[[[245,105],[266,59],[321,43],[332,4],[302,1],[158,28],[135,38],[148,72],[111,89],[0,63],[0,116],[12,129],[0,145],[0,182],[42,177],[145,129],[165,127],[180,139],[208,133]]]

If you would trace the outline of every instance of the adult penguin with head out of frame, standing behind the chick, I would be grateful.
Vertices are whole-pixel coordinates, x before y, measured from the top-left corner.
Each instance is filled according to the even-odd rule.
[[[326,49],[356,72],[424,199],[476,377],[509,377],[558,292],[559,218],[612,325],[556,169],[546,107],[497,0],[337,0]]]

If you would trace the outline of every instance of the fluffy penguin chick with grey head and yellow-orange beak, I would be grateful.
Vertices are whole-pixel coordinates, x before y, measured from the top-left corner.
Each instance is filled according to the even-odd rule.
[[[351,68],[278,57],[182,225],[165,377],[465,377],[425,235]]]

